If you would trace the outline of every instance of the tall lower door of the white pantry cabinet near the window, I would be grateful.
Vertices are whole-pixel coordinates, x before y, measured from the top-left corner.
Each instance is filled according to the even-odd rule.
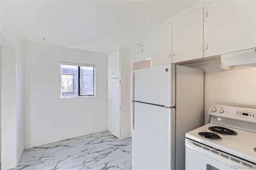
[[[120,138],[120,79],[108,80],[108,111],[111,117],[112,135]]]

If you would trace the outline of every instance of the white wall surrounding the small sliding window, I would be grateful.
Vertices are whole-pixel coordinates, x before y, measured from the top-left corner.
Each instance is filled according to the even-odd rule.
[[[107,56],[26,42],[25,147],[107,129]],[[60,98],[60,61],[96,65],[96,96]]]

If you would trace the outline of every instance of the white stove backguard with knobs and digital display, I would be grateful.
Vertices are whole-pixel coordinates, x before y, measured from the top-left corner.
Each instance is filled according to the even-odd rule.
[[[256,123],[256,109],[226,105],[210,105],[208,114],[217,117],[226,117],[229,119]]]

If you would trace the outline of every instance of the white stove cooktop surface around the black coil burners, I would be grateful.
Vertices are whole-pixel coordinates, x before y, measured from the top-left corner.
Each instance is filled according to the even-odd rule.
[[[213,133],[210,129],[214,128],[211,127],[217,129],[218,134],[216,134],[217,132]],[[204,136],[200,135],[200,132],[203,132]],[[220,134],[219,132],[224,132],[225,134]],[[205,136],[213,136],[213,134],[220,136],[222,139],[210,140],[205,138]],[[254,151],[254,148],[256,148],[256,134],[254,133],[209,123],[195,130],[187,132],[186,138],[190,138],[196,142],[200,142],[218,150],[222,150],[256,164],[256,152]]]

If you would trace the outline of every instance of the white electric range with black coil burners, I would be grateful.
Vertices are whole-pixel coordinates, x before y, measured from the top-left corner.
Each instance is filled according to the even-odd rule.
[[[186,133],[186,170],[256,170],[256,109],[210,105],[208,114]]]

